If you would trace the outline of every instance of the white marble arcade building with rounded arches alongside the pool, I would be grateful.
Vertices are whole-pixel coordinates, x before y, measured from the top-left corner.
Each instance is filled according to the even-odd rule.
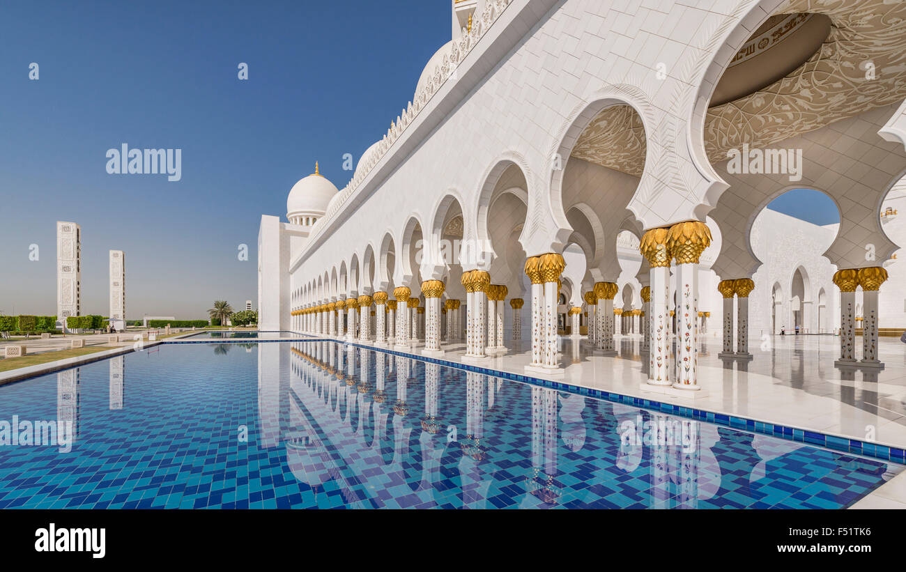
[[[880,288],[880,327],[906,328],[906,281],[892,259],[906,241],[902,215],[881,212],[903,202],[894,186],[906,173],[906,69],[889,58],[906,52],[906,5],[476,0],[454,3],[451,16],[452,38],[439,38],[412,99],[400,102],[348,184],[337,189],[315,167],[290,192],[288,222],[262,217],[263,328],[321,332],[331,314],[342,335],[363,329],[367,337],[350,300],[376,292],[393,300],[402,289],[400,316],[405,300],[434,280],[444,282],[445,309],[447,300],[487,300],[461,283],[474,271],[506,286],[505,338],[519,323],[522,339],[544,346],[548,329],[532,319],[539,284],[524,267],[548,255],[569,259],[545,278],[559,290],[554,311],[581,308],[584,325],[595,306],[583,296],[614,284],[617,293],[597,308],[600,323],[615,321],[618,333],[646,328],[626,310],[644,307],[641,291],[657,277],[665,288],[658,303],[666,304],[658,308],[702,312],[690,317],[694,335],[719,337],[718,282],[751,279],[750,300],[734,302],[734,316],[748,315],[737,353],[750,357],[747,340],[780,329],[839,329],[834,272],[882,268],[890,278]],[[792,50],[776,40],[784,37],[813,49]],[[763,57],[787,75],[758,80]],[[866,60],[889,67],[869,78],[860,68]],[[860,91],[875,79],[871,94]],[[820,96],[797,97],[802,90]],[[772,157],[791,157],[786,170],[738,170],[732,152],[749,145],[781,149]],[[840,224],[766,210],[797,187],[829,195]],[[665,277],[641,255],[640,241],[689,223],[707,227],[710,239],[682,264],[680,302],[674,253]],[[551,295],[536,296],[545,320]],[[602,316],[604,307],[625,318]],[[450,311],[467,338],[467,307],[447,318]],[[694,374],[684,378],[694,386]]]

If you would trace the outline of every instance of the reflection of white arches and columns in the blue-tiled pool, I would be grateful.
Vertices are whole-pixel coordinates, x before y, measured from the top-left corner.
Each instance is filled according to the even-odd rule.
[[[832,508],[901,471],[367,348],[262,346],[259,375],[290,372],[259,378],[279,396],[262,418],[288,412],[280,441],[309,506]]]

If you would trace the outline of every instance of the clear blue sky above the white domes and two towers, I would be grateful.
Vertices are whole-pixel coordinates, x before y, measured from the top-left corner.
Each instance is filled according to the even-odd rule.
[[[130,319],[256,300],[260,215],[283,216],[315,160],[342,188],[343,154],[381,138],[449,36],[448,0],[5,5],[0,313],[56,312],[57,220],[82,225],[83,313],[108,311],[110,249]],[[182,179],[107,174],[122,143],[182,149]]]

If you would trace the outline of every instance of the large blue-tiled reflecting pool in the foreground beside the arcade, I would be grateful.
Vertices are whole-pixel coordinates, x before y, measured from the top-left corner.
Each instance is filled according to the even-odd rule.
[[[0,387],[0,508],[851,506],[903,467],[328,341],[163,344]]]

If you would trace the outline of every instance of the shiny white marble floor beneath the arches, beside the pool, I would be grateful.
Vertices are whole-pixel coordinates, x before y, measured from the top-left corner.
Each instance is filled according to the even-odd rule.
[[[859,341],[859,340],[857,340]],[[753,342],[749,361],[718,358],[720,340],[707,338],[699,353],[699,384],[707,396],[695,400],[642,392],[648,378],[647,360],[641,357],[641,338],[617,337],[619,355],[593,355],[586,341],[561,340],[563,378],[575,386],[604,389],[628,396],[689,405],[716,413],[757,421],[906,446],[906,344],[882,338],[882,370],[834,367],[839,338],[834,336],[775,336],[760,345]],[[419,353],[421,344],[413,349]],[[442,344],[444,359],[460,361],[464,342]],[[531,361],[528,342],[508,343],[505,355],[480,362],[518,374]],[[470,361],[468,363],[476,363]],[[533,377],[545,377],[531,374]]]

